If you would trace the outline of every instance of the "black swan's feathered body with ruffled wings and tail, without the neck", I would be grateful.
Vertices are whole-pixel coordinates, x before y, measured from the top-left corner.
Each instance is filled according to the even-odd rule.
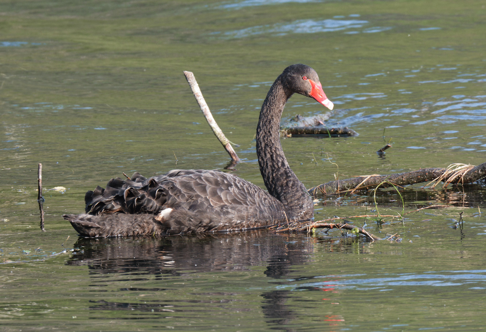
[[[86,215],[65,217],[89,236],[243,230],[286,221],[277,199],[218,170],[174,169],[148,179],[135,173],[88,191],[85,202]]]

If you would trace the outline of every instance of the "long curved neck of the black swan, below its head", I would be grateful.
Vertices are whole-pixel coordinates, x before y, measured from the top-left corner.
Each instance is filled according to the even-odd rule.
[[[277,78],[263,101],[257,127],[257,156],[263,182],[292,220],[313,216],[313,203],[303,183],[287,163],[279,137],[280,116],[292,92]]]

